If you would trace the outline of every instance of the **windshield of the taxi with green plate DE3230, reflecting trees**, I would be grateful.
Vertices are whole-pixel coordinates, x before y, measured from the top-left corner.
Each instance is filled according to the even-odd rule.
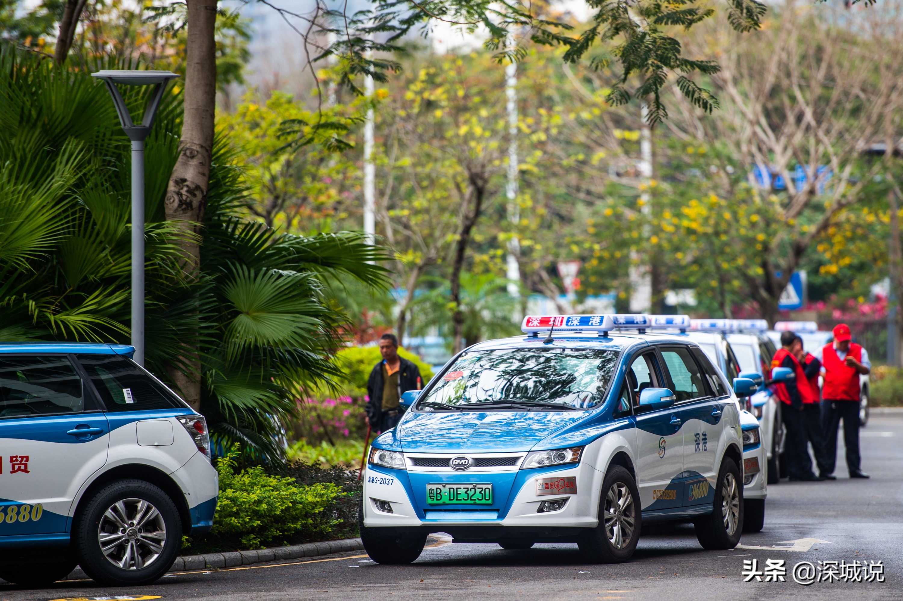
[[[478,403],[503,409],[589,409],[603,401],[618,355],[589,348],[464,353],[417,409],[476,409]]]

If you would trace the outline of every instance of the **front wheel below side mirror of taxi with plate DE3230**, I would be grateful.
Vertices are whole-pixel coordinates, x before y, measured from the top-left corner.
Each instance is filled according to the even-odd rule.
[[[643,529],[637,483],[627,469],[610,467],[602,480],[599,525],[577,541],[583,559],[591,563],[627,561],[637,549]]]

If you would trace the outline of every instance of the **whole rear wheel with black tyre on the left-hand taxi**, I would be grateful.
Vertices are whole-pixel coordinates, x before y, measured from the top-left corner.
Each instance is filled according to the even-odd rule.
[[[182,517],[157,486],[117,480],[79,508],[72,542],[81,569],[99,584],[149,584],[172,568],[182,548]]]

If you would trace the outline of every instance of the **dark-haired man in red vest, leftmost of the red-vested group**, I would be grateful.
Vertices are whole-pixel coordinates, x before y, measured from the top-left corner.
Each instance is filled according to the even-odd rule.
[[[804,411],[806,404],[817,406],[815,403],[818,402],[818,397],[812,393],[803,366],[794,355],[796,345],[799,344],[797,340],[794,332],[781,334],[781,347],[771,359],[772,367],[789,367],[795,375],[792,379],[775,384],[777,398],[784,403],[781,419],[787,429],[787,472],[791,481],[824,480],[824,477],[815,476],[812,472],[812,459],[809,458]]]

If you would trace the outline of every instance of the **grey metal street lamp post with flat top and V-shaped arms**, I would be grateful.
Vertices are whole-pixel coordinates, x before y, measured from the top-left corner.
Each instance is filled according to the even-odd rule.
[[[107,84],[119,123],[132,141],[132,346],[135,347],[135,362],[144,365],[144,140],[151,133],[166,84],[179,76],[171,71],[151,70],[102,70],[91,76],[103,79]],[[155,86],[141,125],[132,121],[116,84]]]

